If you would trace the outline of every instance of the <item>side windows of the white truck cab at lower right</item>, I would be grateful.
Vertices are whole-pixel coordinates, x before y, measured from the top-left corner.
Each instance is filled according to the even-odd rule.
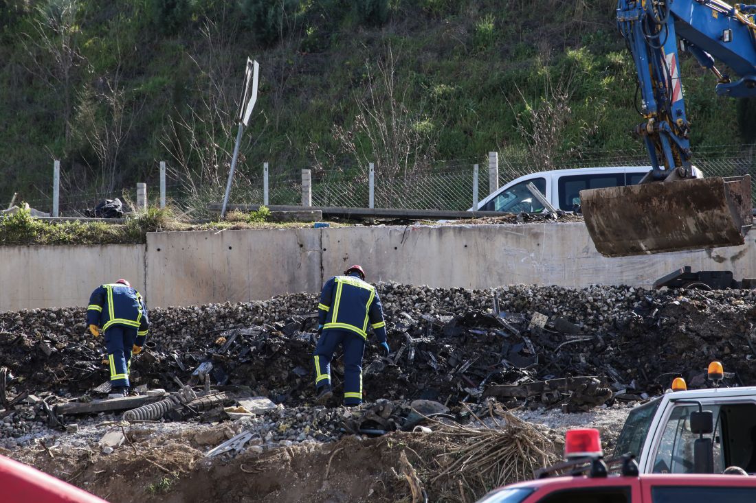
[[[690,431],[689,415],[697,409],[698,406],[688,404],[672,409],[655,454],[654,473],[692,473],[693,442],[698,435]],[[714,413],[714,473],[721,473],[728,466],[756,471],[756,404],[730,403],[704,409]]]

